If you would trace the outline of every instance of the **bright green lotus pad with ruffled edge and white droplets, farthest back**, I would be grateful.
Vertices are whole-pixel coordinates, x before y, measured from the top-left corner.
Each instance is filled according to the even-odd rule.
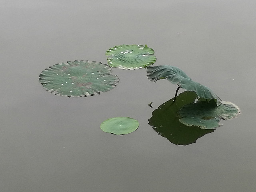
[[[121,69],[146,68],[156,62],[154,50],[147,45],[119,45],[106,51],[108,64]]]

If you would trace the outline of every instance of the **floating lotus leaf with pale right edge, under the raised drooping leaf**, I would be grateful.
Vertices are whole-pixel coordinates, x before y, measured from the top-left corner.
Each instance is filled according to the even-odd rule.
[[[198,101],[183,106],[178,111],[180,122],[187,126],[199,126],[202,129],[214,129],[220,120],[228,120],[240,114],[238,106],[231,102],[222,101],[216,106],[214,102]]]

